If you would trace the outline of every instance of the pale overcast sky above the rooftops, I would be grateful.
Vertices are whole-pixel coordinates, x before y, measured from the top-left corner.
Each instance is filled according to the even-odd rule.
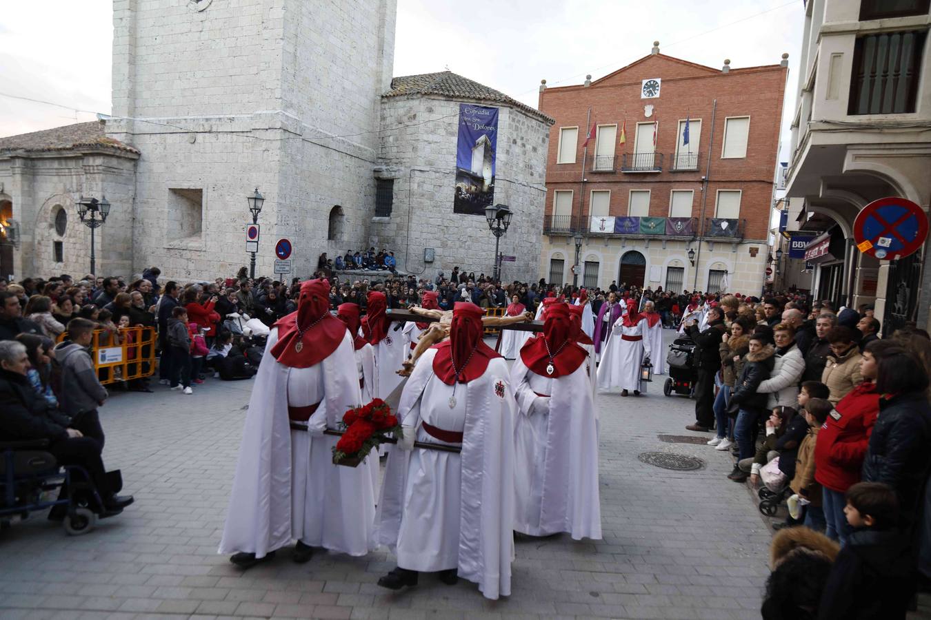
[[[112,3],[4,5],[0,136],[94,118],[3,95],[109,113]],[[725,58],[735,68],[775,64],[789,52],[788,119],[803,10],[801,0],[398,0],[395,75],[449,68],[535,107],[541,78],[548,86],[598,78],[649,54],[654,40],[665,54],[716,68]]]

